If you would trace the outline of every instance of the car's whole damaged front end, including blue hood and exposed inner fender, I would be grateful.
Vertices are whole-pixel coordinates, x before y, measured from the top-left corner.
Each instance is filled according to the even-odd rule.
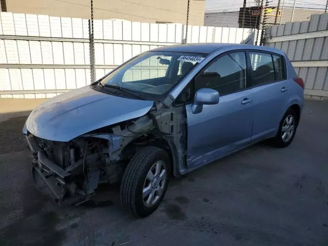
[[[173,175],[186,173],[186,126],[185,107],[81,88],[34,109],[23,133],[36,187],[59,204],[79,204],[99,184],[120,182],[129,161],[147,146],[169,154]]]

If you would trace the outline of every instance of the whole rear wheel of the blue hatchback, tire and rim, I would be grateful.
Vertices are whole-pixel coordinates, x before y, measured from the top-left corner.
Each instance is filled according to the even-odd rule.
[[[294,139],[299,116],[293,109],[288,109],[283,115],[277,135],[273,139],[273,143],[278,148],[285,148],[291,144]]]

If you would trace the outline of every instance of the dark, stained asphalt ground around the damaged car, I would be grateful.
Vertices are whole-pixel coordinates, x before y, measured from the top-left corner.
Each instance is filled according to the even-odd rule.
[[[328,245],[327,111],[308,101],[288,148],[257,144],[172,180],[145,219],[122,210],[119,187],[101,188],[103,207],[41,196],[20,148],[24,118],[11,118],[0,126],[0,245]]]

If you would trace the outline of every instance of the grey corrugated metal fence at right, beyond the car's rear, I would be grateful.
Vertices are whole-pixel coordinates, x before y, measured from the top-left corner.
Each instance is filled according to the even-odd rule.
[[[304,79],[304,94],[328,99],[328,14],[313,14],[310,22],[271,26],[265,36],[265,45],[288,55]]]

